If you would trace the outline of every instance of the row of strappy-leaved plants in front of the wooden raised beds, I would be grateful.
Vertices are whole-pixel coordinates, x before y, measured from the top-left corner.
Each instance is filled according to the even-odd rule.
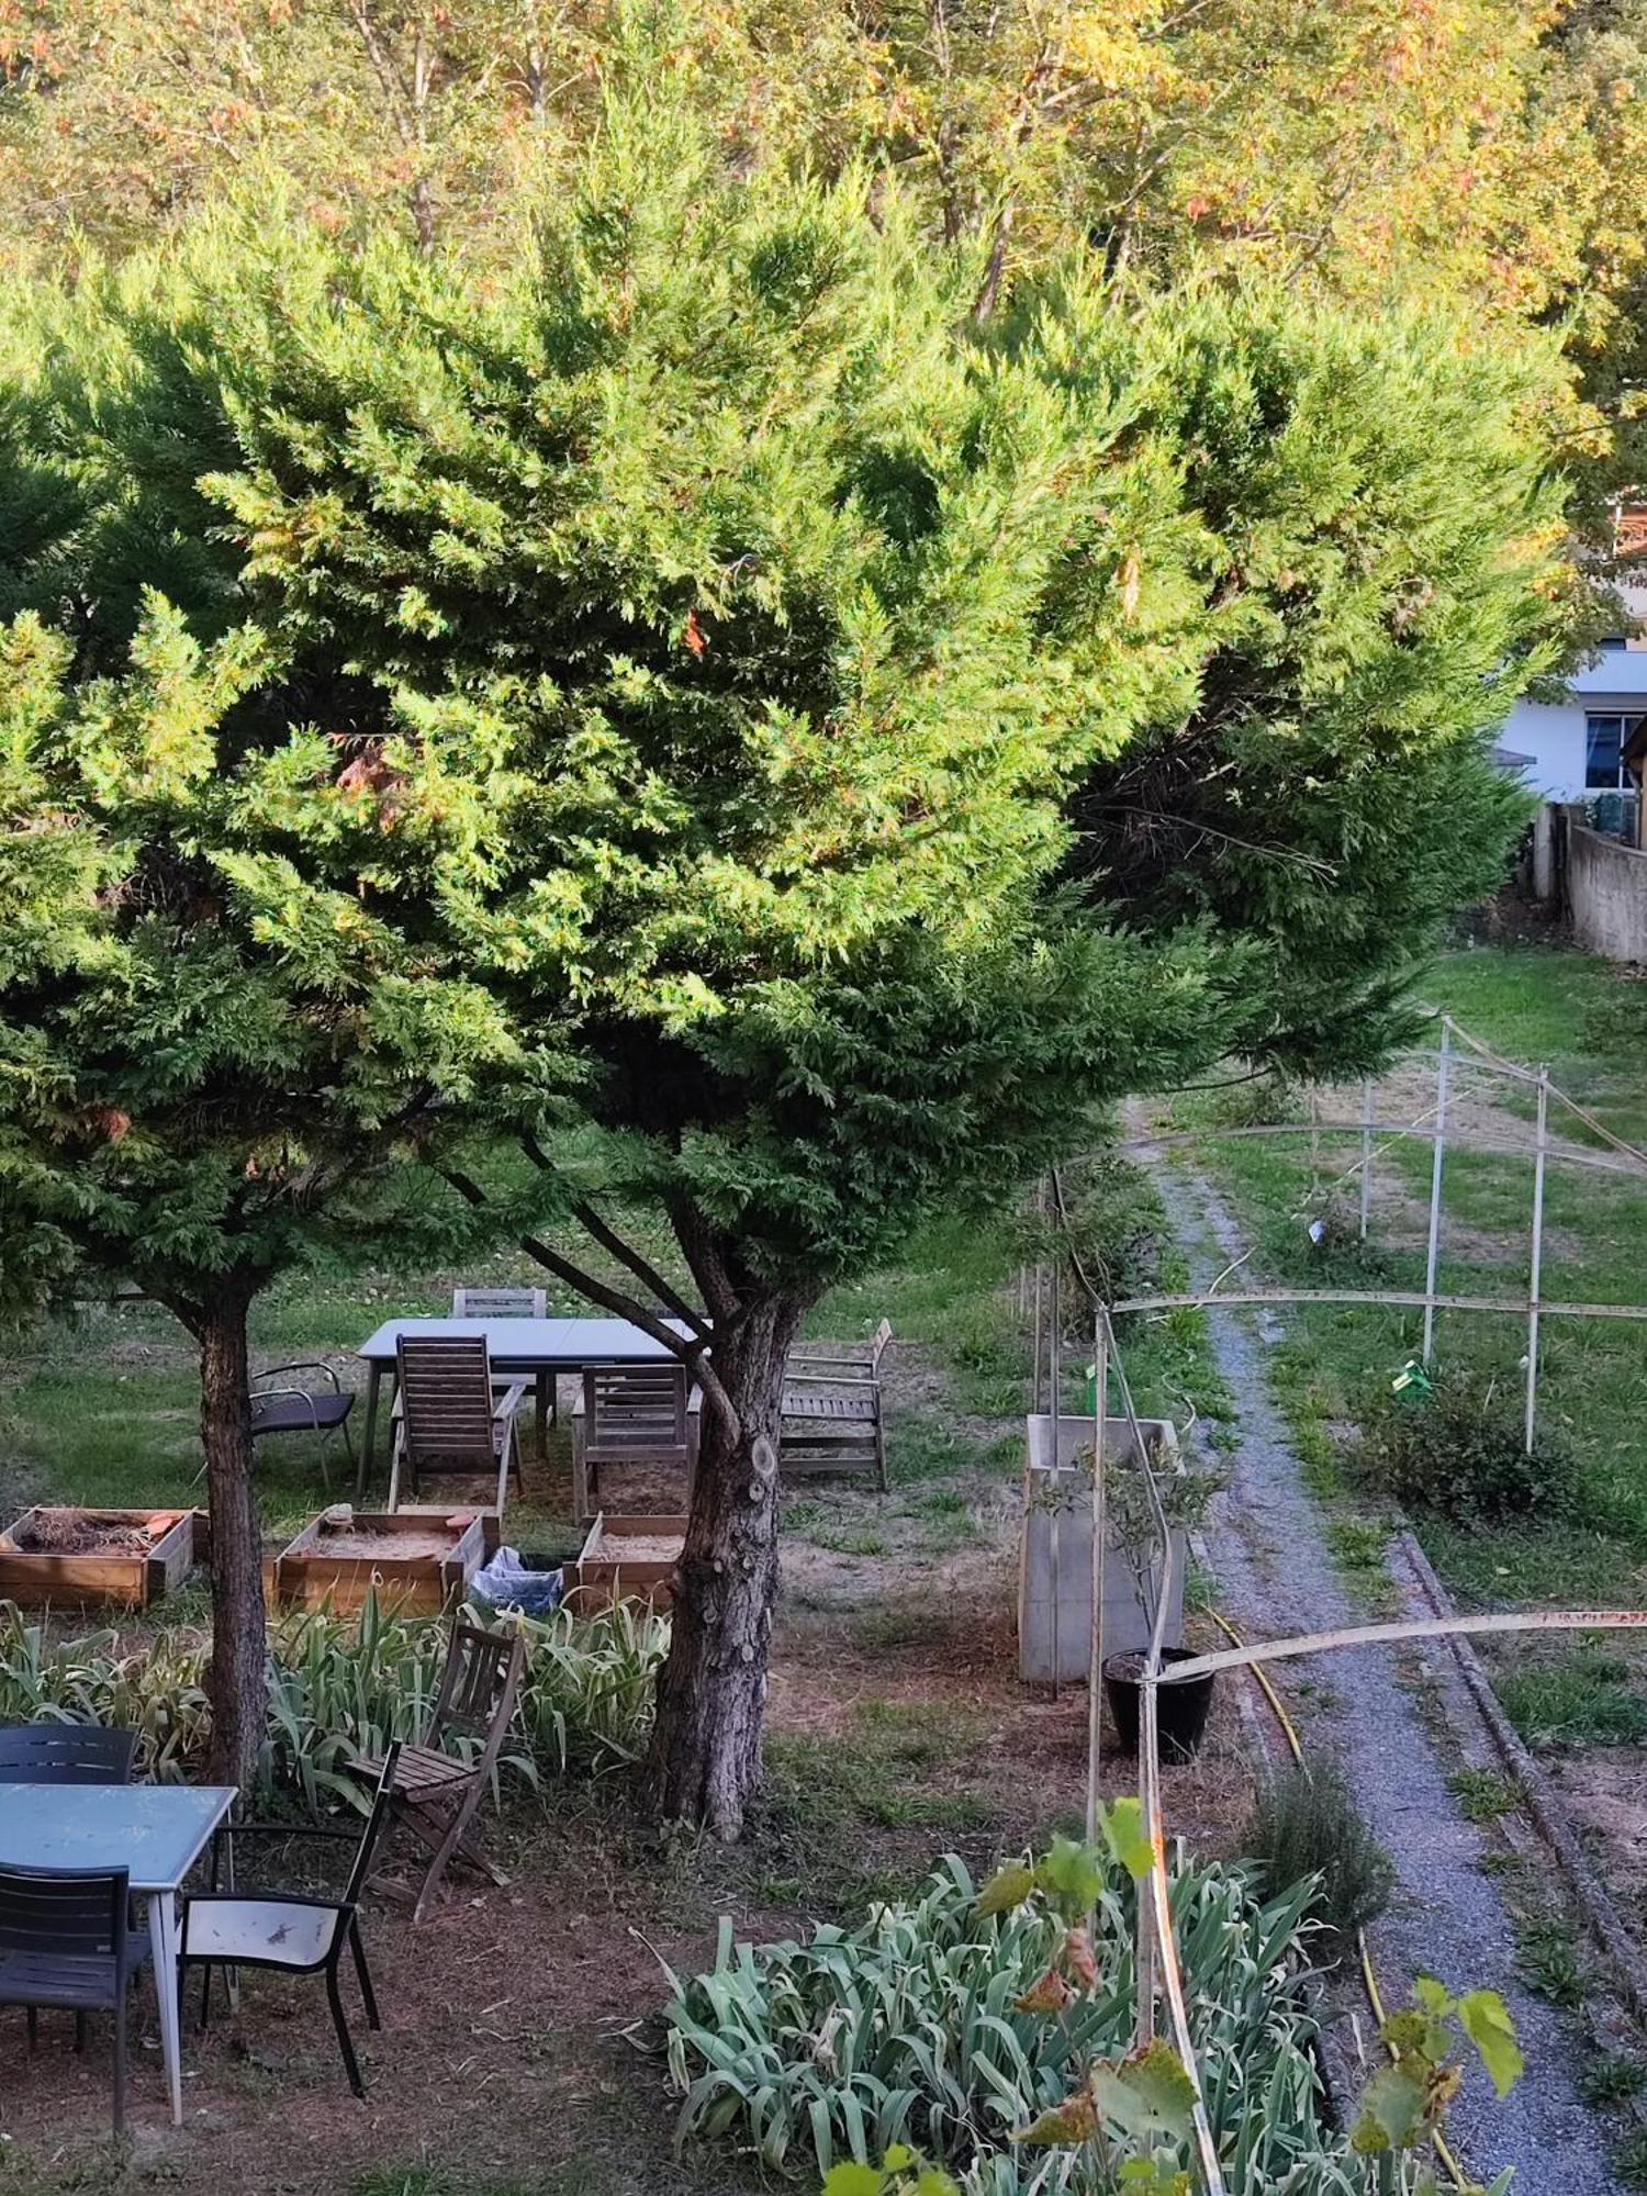
[[[668,1625],[632,1603],[595,1616],[556,1610],[509,1616],[527,1638],[514,1735],[503,1770],[536,1783],[567,1770],[635,1761],[652,1722]],[[268,1715],[257,1766],[266,1794],[290,1794],[321,1814],[360,1805],[347,1763],[428,1724],[446,1654],[437,1616],[391,1616],[369,1599],[360,1616],[290,1612],[270,1627]],[[209,1643],[165,1629],[141,1649],[119,1634],[53,1638],[15,1603],[0,1603],[0,1722],[116,1724],[138,1733],[138,1774],[200,1777],[211,1741],[204,1691]]]

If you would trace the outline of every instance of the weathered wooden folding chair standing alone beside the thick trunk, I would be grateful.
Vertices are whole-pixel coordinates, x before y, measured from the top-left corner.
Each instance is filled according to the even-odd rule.
[[[391,1788],[393,1818],[428,1849],[430,1862],[413,1906],[422,1922],[452,1860],[466,1860],[488,1882],[503,1878],[474,1842],[470,1823],[485,1799],[525,1671],[523,1632],[483,1632],[455,1623],[446,1649],[435,1711],[417,1746],[402,1746]],[[450,1739],[479,1741],[474,1752],[452,1752]],[[362,1777],[380,1777],[382,1759],[356,1759]]]

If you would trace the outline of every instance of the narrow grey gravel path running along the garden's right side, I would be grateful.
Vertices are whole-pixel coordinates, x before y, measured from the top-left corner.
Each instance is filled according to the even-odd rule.
[[[1192,1285],[1201,1287],[1247,1245],[1206,1179],[1162,1168],[1157,1184],[1190,1258]],[[1210,1531],[1230,1618],[1250,1638],[1366,1621],[1340,1586],[1320,1511],[1269,1401],[1265,1355],[1280,1340],[1280,1322],[1247,1309],[1212,1313],[1210,1329],[1241,1427],[1230,1491]],[[1302,1669],[1285,1665],[1278,1673],[1293,1706]],[[1399,1873],[1397,1900],[1372,1930],[1386,1998],[1397,2003],[1410,1979],[1427,1972],[1454,1987],[1500,1990],[1515,2014],[1526,2075],[1498,2104],[1480,2069],[1471,2069],[1454,2110],[1465,2163],[1482,2181],[1515,2165],[1515,2196],[1618,2196],[1610,2165],[1614,2137],[1575,2086],[1583,2042],[1572,2023],[1515,1979],[1511,1917],[1493,1878],[1478,1869],[1482,1831],[1458,1814],[1449,1768],[1419,1702],[1397,1682],[1397,1658],[1390,1649],[1362,1649],[1322,1656],[1309,1671],[1320,1689],[1311,1691],[1309,1728],[1337,1748]]]

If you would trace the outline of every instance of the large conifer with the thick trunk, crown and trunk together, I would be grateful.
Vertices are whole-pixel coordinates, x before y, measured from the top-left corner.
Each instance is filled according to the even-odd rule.
[[[64,573],[143,509],[191,547],[204,498],[182,608],[235,604],[268,670],[191,782],[224,889],[176,940],[382,1015],[373,1124],[435,1080],[444,1135],[536,1162],[498,1203],[426,1153],[450,1210],[654,1326],[674,1291],[613,1212],[668,1214],[705,1432],[652,1788],[731,1834],[804,1309],[1120,1094],[1230,1050],[1375,1058],[1493,881],[1489,727],[1557,624],[1550,369],[1089,270],[979,336],[979,261],[896,193],[738,178],[665,101],[613,105],[582,195],[529,213],[483,279],[261,217],[83,296],[121,402],[79,433],[42,402],[103,485],[15,586],[101,600]],[[211,470],[180,483],[180,448]],[[145,821],[127,771],[108,828]],[[42,1019],[0,986],[11,1045]]]

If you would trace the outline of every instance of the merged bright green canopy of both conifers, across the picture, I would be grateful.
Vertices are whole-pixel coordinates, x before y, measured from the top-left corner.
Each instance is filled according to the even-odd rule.
[[[1120,1096],[1381,1058],[1495,883],[1555,343],[1085,242],[979,321],[911,189],[729,163],[670,35],[494,261],[259,184],[9,294],[13,1296],[134,1276],[217,1348],[283,1269],[595,1195],[782,1337]]]

